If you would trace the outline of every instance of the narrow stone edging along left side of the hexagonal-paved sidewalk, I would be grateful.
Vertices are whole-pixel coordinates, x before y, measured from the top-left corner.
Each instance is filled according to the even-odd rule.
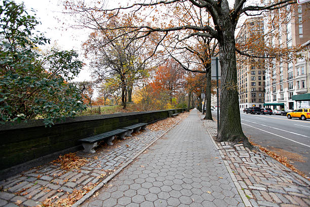
[[[71,205],[71,207],[78,207],[80,206],[83,202],[85,202],[88,198],[90,198],[91,196],[93,196],[95,194],[95,192],[97,190],[99,190],[100,188],[102,188],[105,184],[107,184],[110,180],[112,180],[115,176],[117,176],[122,169],[124,169],[125,167],[127,167],[131,162],[134,161],[134,159],[136,159],[139,155],[141,155],[147,148],[149,148],[152,144],[154,144],[154,142],[158,141],[161,137],[163,137],[168,131],[170,131],[173,127],[175,127],[178,123],[180,123],[182,120],[178,121],[176,124],[174,124],[172,127],[170,127],[169,129],[167,129],[166,131],[164,131],[159,137],[157,137],[157,139],[153,140],[152,142],[150,142],[147,146],[145,146],[141,151],[139,151],[135,156],[133,156],[130,160],[128,160],[123,166],[121,166],[120,168],[118,168],[117,170],[115,170],[111,175],[109,175],[106,179],[104,179],[103,181],[101,181],[101,183],[99,183],[95,188],[93,188],[91,191],[89,191],[86,195],[84,195],[81,199],[79,199],[78,201],[76,201],[73,205]]]

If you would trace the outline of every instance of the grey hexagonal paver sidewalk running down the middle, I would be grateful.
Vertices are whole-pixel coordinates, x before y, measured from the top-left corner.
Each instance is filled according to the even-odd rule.
[[[82,206],[244,206],[197,110]]]

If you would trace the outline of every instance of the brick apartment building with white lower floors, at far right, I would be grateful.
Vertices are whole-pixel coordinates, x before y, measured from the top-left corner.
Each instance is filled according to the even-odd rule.
[[[280,36],[273,39],[273,44],[288,48],[308,45],[310,40],[309,6],[298,5],[293,12],[287,14],[286,18],[285,24],[279,28]],[[309,47],[302,54],[309,57]],[[272,109],[293,110],[309,105],[310,102],[306,99],[308,95],[296,96],[310,91],[310,68],[307,59],[273,60],[266,67],[265,75],[264,106]],[[301,97],[305,99],[300,99]]]

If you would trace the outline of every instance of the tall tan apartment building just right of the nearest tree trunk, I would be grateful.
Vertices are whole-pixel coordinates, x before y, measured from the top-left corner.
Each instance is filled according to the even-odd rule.
[[[263,19],[261,17],[247,19],[236,37],[240,47],[255,42],[253,37],[260,37],[263,34]],[[248,50],[248,54],[255,54],[255,49]],[[240,110],[248,107],[263,107],[265,71],[264,59],[249,58],[247,56],[237,55],[237,73],[238,73],[238,92]]]

